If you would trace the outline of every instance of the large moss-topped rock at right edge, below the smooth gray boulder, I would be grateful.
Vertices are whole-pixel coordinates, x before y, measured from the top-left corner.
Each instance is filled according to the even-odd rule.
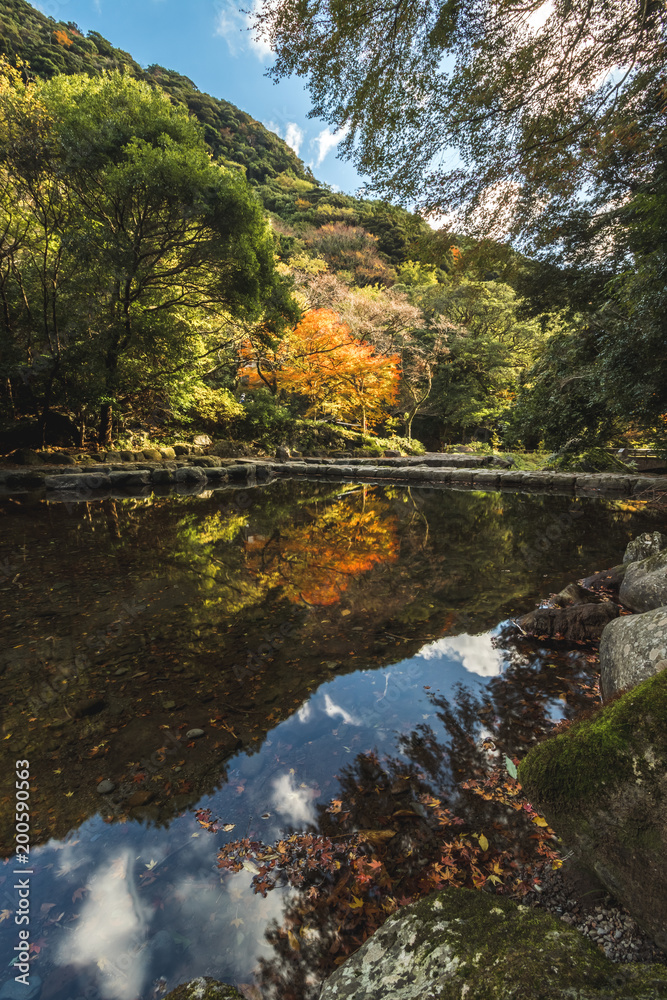
[[[667,950],[667,671],[527,754],[526,796]]]

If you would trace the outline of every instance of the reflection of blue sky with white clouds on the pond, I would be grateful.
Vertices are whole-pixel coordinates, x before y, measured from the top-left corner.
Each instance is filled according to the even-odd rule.
[[[424,721],[441,733],[429,694],[450,695],[458,683],[479,688],[501,662],[490,634],[463,635],[321,685],[257,752],[233,758],[227,782],[200,802],[234,824],[226,834],[202,829],[192,811],[167,829],[93,818],[69,841],[36,850],[33,905],[39,911],[46,904],[46,912],[34,936],[46,931],[40,959],[67,981],[54,1000],[87,986],[106,1000],[149,997],[160,978],[169,988],[202,974],[251,981],[258,958],[271,954],[265,931],[280,919],[287,895],[262,898],[249,872],[223,874],[217,849],[246,836],[272,843],[314,823],[318,804],[338,793],[345,764],[371,749],[395,754],[397,734]],[[60,911],[62,920],[48,925]],[[0,944],[12,927],[0,925]]]

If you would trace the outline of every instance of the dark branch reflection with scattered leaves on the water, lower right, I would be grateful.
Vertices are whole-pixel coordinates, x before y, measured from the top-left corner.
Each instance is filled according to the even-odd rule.
[[[223,866],[248,854],[263,865],[260,891],[284,881],[298,889],[267,934],[275,956],[261,963],[263,996],[316,997],[389,913],[434,888],[520,898],[554,863],[551,831],[534,822],[502,755],[522,755],[551,728],[554,700],[566,717],[586,706],[593,668],[584,654],[536,650],[510,634],[499,641],[509,666],[486,696],[459,688],[451,699],[432,697],[444,736],[419,726],[399,740],[396,757],[359,755],[304,837],[221,852]]]

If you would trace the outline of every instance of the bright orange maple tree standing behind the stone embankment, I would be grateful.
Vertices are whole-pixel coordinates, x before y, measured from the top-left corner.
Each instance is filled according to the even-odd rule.
[[[386,415],[399,381],[398,355],[378,354],[329,309],[313,309],[274,349],[247,341],[241,377],[248,388],[294,393],[309,402],[306,416],[357,419],[363,430]]]

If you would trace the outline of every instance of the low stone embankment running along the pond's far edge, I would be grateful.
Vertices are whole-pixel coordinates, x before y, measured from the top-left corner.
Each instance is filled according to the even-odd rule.
[[[217,486],[306,479],[397,483],[425,488],[540,492],[565,496],[650,496],[667,492],[667,478],[622,473],[524,472],[500,456],[222,459],[161,452],[108,453],[85,464],[0,469],[0,494],[44,491],[47,499],[81,500],[153,493],[198,493]],[[130,457],[131,456],[131,457]],[[118,458],[119,460],[116,460]],[[109,459],[112,459],[111,461]]]

